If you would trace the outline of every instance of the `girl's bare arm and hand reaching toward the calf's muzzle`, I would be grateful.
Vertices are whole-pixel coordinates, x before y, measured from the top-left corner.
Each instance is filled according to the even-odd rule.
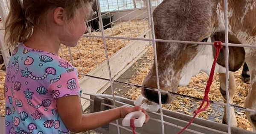
[[[79,96],[61,97],[57,100],[57,110],[66,127],[72,132],[81,132],[98,128],[102,125],[112,122],[113,120],[125,117],[132,111],[138,111],[139,106],[128,107],[121,106],[110,110],[96,113],[83,114]],[[149,116],[144,109],[148,122]]]

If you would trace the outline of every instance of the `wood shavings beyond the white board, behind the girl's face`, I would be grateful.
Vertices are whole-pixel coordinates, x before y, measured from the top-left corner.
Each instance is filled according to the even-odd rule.
[[[104,30],[105,36],[110,37],[139,37],[148,29],[148,21],[133,20],[131,22],[113,23],[113,27]],[[87,33],[89,35],[89,33]],[[91,35],[102,36],[102,32],[93,32]],[[130,43],[132,40],[106,39],[108,57],[111,57],[122,47]],[[98,37],[81,37],[78,46],[70,48],[62,45],[59,55],[73,66],[77,67],[79,73],[87,74],[99,64],[106,60],[105,49],[102,38]],[[79,75],[79,78],[83,76]]]

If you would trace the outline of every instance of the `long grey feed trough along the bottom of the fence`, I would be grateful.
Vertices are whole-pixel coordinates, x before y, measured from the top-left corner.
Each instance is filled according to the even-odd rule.
[[[90,112],[97,112],[109,109],[111,107],[107,105],[113,105],[112,95],[108,94],[87,94],[90,95],[91,101]],[[125,99],[123,97],[115,96],[116,106],[122,105],[134,105],[134,101]],[[102,105],[103,104],[103,105]],[[160,113],[148,112],[151,119],[147,124],[144,124],[141,128],[136,128],[138,134],[162,134],[162,128],[160,123]],[[165,121],[165,133],[176,134],[180,131],[190,120],[191,116],[186,114],[180,114],[173,111],[163,109],[163,119]],[[122,126],[122,119],[118,120],[121,134],[132,134],[131,128]],[[184,131],[182,134],[227,134],[227,125],[216,123],[210,120],[196,118],[189,126],[189,130]],[[102,134],[117,134],[116,121],[109,123],[100,128],[96,128]],[[247,131],[241,128],[231,127],[232,134],[255,134],[251,131]]]

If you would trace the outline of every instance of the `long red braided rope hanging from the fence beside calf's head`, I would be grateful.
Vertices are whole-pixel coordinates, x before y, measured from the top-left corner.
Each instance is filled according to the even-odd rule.
[[[202,100],[202,103],[201,105],[199,106],[198,110],[195,110],[194,111],[194,116],[192,117],[192,119],[190,120],[190,122],[180,131],[178,132],[177,134],[181,134],[183,131],[186,130],[186,128],[189,127],[189,125],[191,125],[191,123],[193,122],[193,120],[195,119],[195,117],[197,116],[198,113],[202,112],[202,111],[205,111],[208,106],[209,106],[209,97],[208,97],[208,94],[209,94],[209,91],[210,91],[210,86],[212,85],[212,79],[213,79],[213,76],[214,76],[214,70],[215,70],[215,66],[216,66],[216,62],[217,62],[217,58],[218,58],[218,55],[220,53],[220,50],[222,48],[221,46],[221,42],[219,41],[215,41],[214,42],[214,46],[216,48],[216,51],[215,51],[215,57],[214,57],[214,61],[213,61],[213,64],[212,64],[212,69],[211,69],[211,72],[210,72],[210,76],[209,76],[209,80],[207,82],[207,85],[206,85],[206,88],[205,88],[205,91],[204,91],[204,98]],[[207,104],[205,105],[204,108],[203,105],[204,105],[204,102],[207,102]]]

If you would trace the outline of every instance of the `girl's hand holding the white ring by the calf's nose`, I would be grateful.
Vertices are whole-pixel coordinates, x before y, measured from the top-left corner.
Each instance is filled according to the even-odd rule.
[[[145,120],[144,124],[147,123],[150,117],[147,114],[147,112],[145,111],[145,109],[141,108],[140,106],[134,106],[134,107],[129,107],[127,105],[121,106],[120,107],[121,118],[124,118],[128,113],[131,113],[133,111],[139,111],[139,110],[141,110],[145,114],[146,120]]]

